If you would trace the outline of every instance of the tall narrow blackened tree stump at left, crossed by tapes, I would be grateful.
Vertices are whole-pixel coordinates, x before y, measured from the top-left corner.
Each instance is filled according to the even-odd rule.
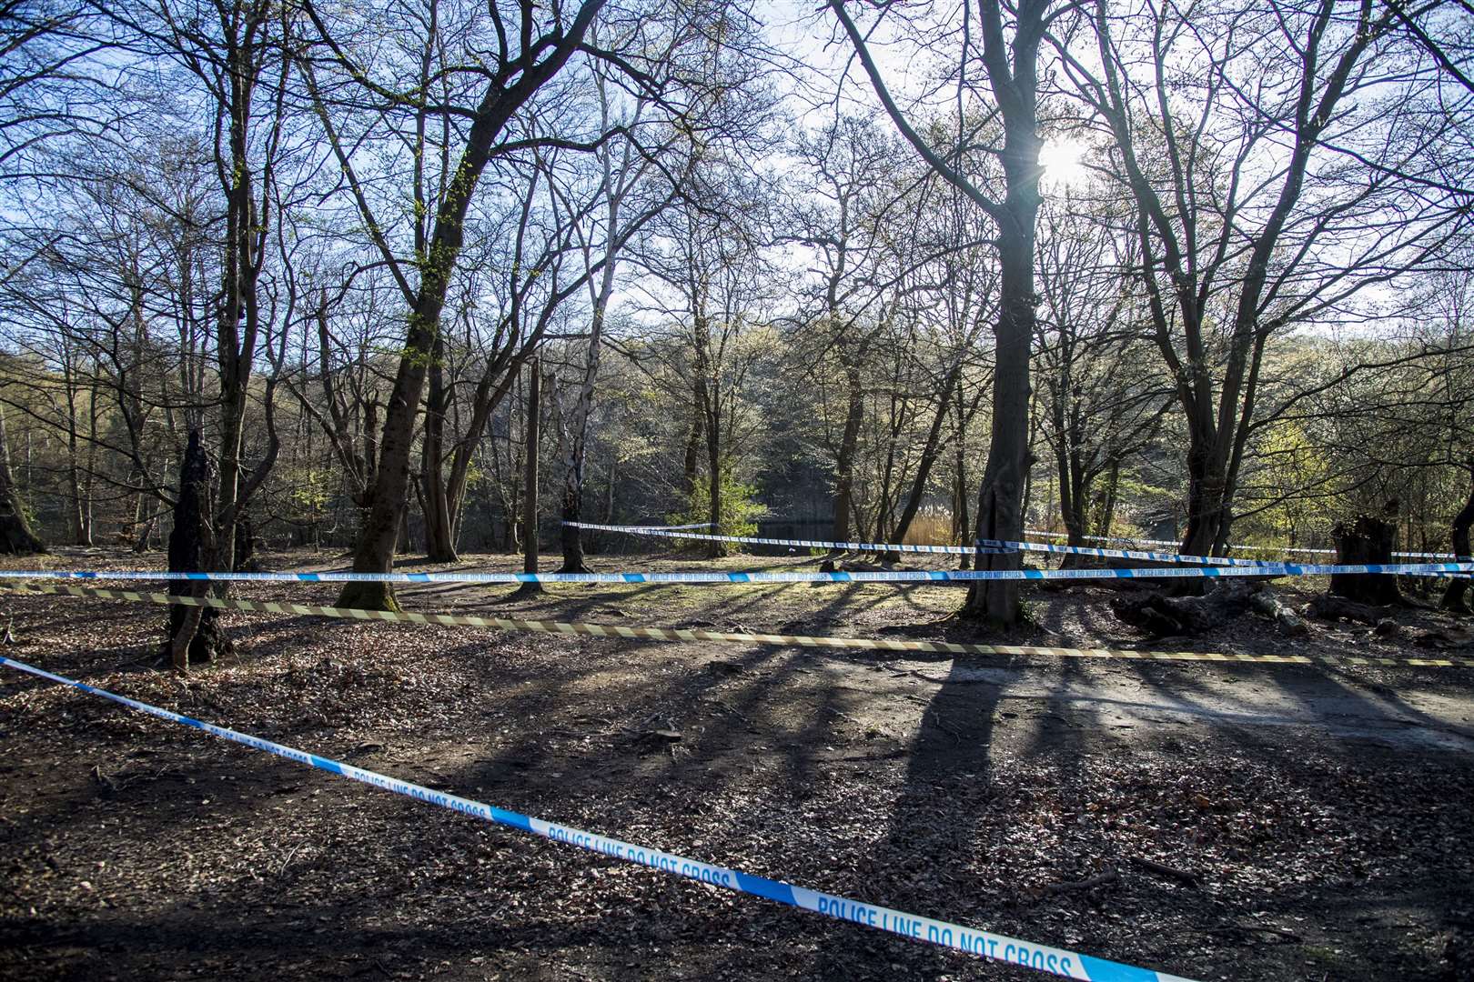
[[[189,446],[180,464],[180,495],[174,504],[174,530],[170,531],[170,573],[195,573],[203,568],[209,521],[209,458],[200,446],[199,430],[190,430]],[[172,596],[205,596],[203,580],[170,580]],[[211,607],[170,607],[170,635],[164,655],[180,671],[192,663],[214,661],[230,652],[230,639],[220,624],[220,611]]]

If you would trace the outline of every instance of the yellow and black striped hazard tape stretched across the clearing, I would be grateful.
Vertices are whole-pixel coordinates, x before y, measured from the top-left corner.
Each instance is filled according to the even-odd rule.
[[[873,637],[811,637],[806,635],[753,635],[744,632],[696,630],[687,627],[622,627],[567,621],[529,621],[473,614],[419,614],[413,611],[364,611],[352,607],[315,607],[276,601],[233,601],[218,596],[175,596],[137,590],[102,590],[85,586],[0,586],[15,593],[62,593],[96,596],[109,601],[215,607],[267,614],[304,614],[343,620],[392,621],[399,624],[444,624],[450,627],[494,627],[498,630],[539,632],[547,635],[587,635],[590,637],[628,637],[632,640],[709,640],[728,645],[777,645],[780,648],[852,648],[865,651],[921,651],[943,655],[1052,655],[1057,658],[1128,658],[1135,661],[1218,661],[1271,665],[1387,665],[1412,668],[1474,668],[1474,658],[1369,658],[1340,655],[1334,660],[1307,655],[1241,655],[1207,651],[1131,651],[1116,648],[1042,648],[1038,645],[977,645],[949,640],[892,640]]]

